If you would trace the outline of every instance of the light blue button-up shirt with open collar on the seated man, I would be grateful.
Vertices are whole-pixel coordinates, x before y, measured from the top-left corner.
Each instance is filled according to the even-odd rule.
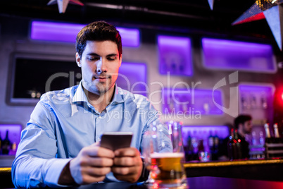
[[[131,146],[141,150],[143,133],[153,121],[159,121],[158,114],[146,97],[117,86],[111,104],[101,113],[87,101],[82,83],[47,92],[21,133],[13,183],[17,188],[58,186],[65,164],[106,131],[131,131]],[[118,181],[112,173],[106,180]]]

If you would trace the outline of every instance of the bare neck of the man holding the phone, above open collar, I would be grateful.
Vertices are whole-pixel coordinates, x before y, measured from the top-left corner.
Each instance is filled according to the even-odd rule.
[[[115,85],[111,87],[107,92],[102,94],[94,94],[89,92],[88,90],[84,89],[84,93],[87,96],[89,104],[92,104],[96,111],[100,113],[106,109],[106,106],[112,102],[113,95],[114,95]]]

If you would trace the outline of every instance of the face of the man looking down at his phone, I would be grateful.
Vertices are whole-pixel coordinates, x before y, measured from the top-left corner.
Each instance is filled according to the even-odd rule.
[[[76,54],[77,65],[82,68],[82,85],[94,94],[103,94],[114,87],[122,57],[111,41],[88,41],[82,57]]]

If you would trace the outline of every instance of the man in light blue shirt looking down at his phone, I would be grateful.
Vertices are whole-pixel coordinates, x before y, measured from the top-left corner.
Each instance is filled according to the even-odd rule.
[[[115,85],[122,63],[118,30],[91,23],[78,33],[76,50],[82,81],[47,92],[35,106],[12,165],[16,187],[136,182],[142,176],[142,135],[158,114],[146,97]],[[132,131],[131,147],[100,147],[106,131]]]

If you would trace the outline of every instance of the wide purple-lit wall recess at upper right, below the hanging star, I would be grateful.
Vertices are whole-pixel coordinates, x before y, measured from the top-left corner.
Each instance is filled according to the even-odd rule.
[[[203,63],[207,68],[275,72],[270,44],[226,39],[202,39]]]

